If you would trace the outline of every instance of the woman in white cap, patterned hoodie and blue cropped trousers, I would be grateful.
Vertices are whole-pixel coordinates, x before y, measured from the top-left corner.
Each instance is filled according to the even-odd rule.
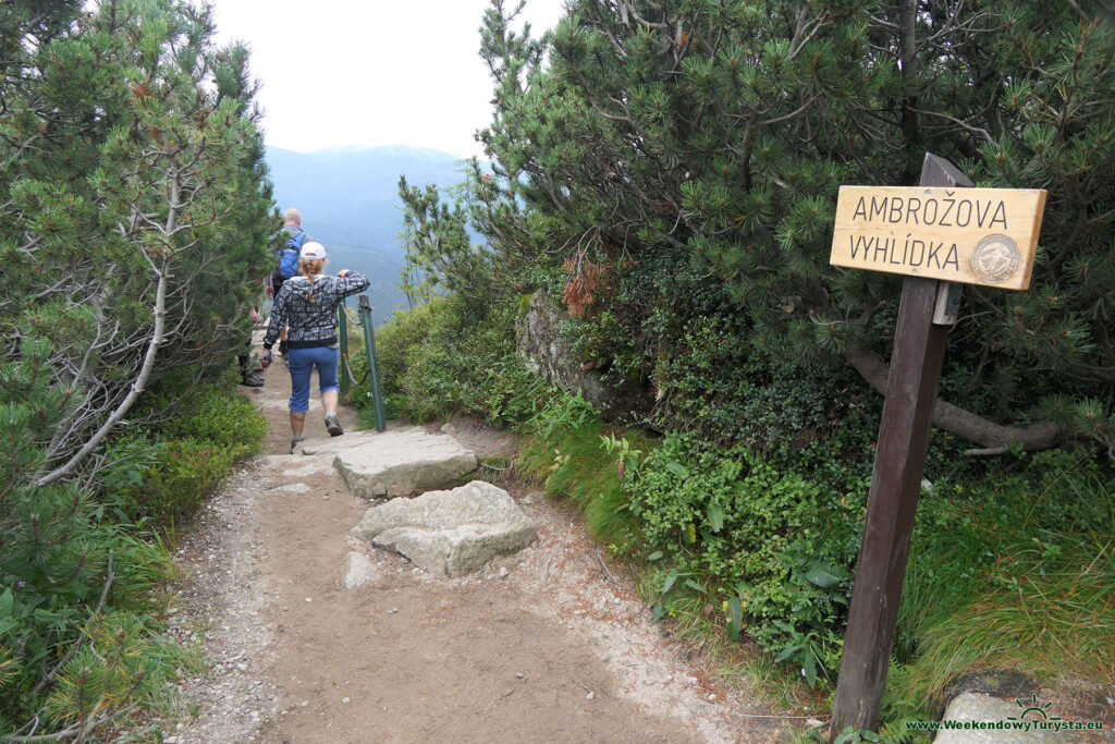
[[[271,364],[271,347],[284,325],[287,361],[290,366],[290,451],[301,442],[306,414],[310,409],[310,376],[318,368],[321,404],[326,409],[326,429],[330,436],[345,433],[337,421],[337,306],[349,294],[368,288],[368,278],[345,269],[336,277],[321,273],[326,268],[326,247],[306,242],[298,259],[298,273],[283,282],[271,321],[263,337],[263,366]]]

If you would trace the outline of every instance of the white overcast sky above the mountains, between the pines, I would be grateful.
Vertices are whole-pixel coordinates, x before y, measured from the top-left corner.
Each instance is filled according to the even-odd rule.
[[[266,143],[311,152],[401,144],[460,157],[491,119],[477,54],[488,0],[213,0],[217,40],[245,41]],[[510,3],[508,3],[510,4]],[[532,36],[562,0],[527,0]]]

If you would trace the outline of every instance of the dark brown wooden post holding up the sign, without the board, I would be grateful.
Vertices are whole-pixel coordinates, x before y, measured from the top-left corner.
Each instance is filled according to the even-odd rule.
[[[927,154],[922,186],[971,186],[952,164]],[[863,542],[856,560],[830,741],[846,726],[874,729],[886,686],[902,581],[949,326],[933,325],[935,279],[902,283],[886,399],[879,427]]]

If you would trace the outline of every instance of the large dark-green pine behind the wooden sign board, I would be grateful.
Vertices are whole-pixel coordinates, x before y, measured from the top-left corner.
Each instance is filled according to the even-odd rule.
[[[938,425],[995,451],[1112,443],[1111,3],[576,0],[544,40],[493,4],[498,178],[474,178],[474,222],[566,288],[603,272],[582,332],[660,409],[656,370],[710,315],[740,335],[721,366],[821,360],[884,387],[899,282],[828,265],[836,192],[911,185],[933,152],[1049,192],[1030,290],[966,288],[942,390],[968,409]]]

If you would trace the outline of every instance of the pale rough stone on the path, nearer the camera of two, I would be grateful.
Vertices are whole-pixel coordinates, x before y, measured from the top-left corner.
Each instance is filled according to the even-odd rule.
[[[511,495],[483,481],[372,506],[352,533],[450,577],[517,552],[537,538],[534,523]]]

